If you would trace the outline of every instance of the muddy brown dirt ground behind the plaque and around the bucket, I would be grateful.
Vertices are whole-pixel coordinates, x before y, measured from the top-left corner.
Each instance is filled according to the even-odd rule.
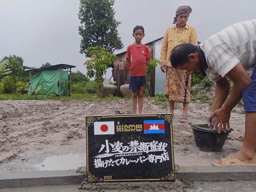
[[[49,156],[85,154],[85,116],[132,113],[131,101],[0,101],[0,172],[35,171]],[[205,123],[208,103],[190,103],[189,121]],[[167,107],[144,99],[144,113],[168,113]],[[211,166],[211,161],[235,153],[242,146],[232,136],[244,133],[241,106],[232,111],[229,134],[221,153],[203,152],[195,146],[189,123],[179,123],[182,104],[173,117],[175,164],[179,166]]]

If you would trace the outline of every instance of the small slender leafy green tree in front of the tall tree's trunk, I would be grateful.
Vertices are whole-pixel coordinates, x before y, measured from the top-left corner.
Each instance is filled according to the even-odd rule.
[[[107,69],[113,63],[116,55],[109,53],[101,46],[89,47],[88,55],[91,57],[91,60],[87,60],[84,63],[87,69],[87,76],[95,78],[97,90],[100,93],[100,98],[102,98],[103,75],[107,73]]]

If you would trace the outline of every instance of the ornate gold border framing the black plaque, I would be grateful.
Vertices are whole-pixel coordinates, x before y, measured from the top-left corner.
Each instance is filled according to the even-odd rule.
[[[170,133],[171,133],[171,153],[172,153],[172,167],[173,170],[171,170],[171,173],[167,176],[163,176],[162,178],[152,178],[152,179],[110,179],[110,180],[104,180],[102,178],[99,178],[89,172],[89,153],[86,151],[86,168],[87,168],[87,182],[95,182],[95,181],[104,181],[104,182],[114,182],[114,181],[160,181],[160,180],[169,180],[173,181],[175,180],[175,164],[174,164],[174,151],[173,151],[173,124],[172,124],[172,115],[171,113],[160,113],[160,114],[141,114],[141,115],[104,115],[104,116],[87,116],[85,117],[86,122],[86,149],[89,148],[88,144],[88,129],[89,126],[94,123],[95,121],[99,121],[103,118],[111,118],[111,117],[162,117],[170,124]]]

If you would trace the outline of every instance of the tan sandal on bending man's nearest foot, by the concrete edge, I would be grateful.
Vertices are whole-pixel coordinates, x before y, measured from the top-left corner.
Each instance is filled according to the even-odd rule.
[[[215,160],[211,162],[214,166],[249,166],[249,165],[256,165],[256,164],[248,164],[240,161],[236,158],[233,154],[230,154],[226,158],[222,158],[220,160]]]

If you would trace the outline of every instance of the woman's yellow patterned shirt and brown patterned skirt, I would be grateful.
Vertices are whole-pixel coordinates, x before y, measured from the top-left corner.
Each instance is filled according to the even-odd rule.
[[[170,61],[171,50],[181,43],[197,44],[197,33],[193,26],[186,24],[183,30],[179,31],[174,25],[165,32],[160,53],[161,62],[167,65],[165,96],[170,101],[190,102],[191,75],[172,67]]]

